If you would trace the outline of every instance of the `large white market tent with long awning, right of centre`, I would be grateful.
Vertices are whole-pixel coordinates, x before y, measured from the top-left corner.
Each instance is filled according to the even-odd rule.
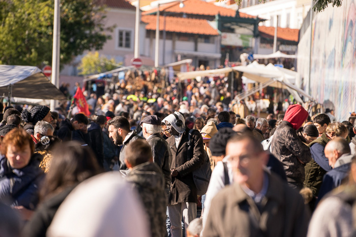
[[[281,67],[276,67],[273,64],[265,66],[264,64],[259,64],[256,61],[252,62],[247,66],[234,66],[226,67],[224,69],[179,73],[177,74],[177,76],[180,78],[180,80],[187,80],[196,77],[221,75],[232,71],[242,72],[245,78],[260,83],[259,86],[237,95],[236,97],[238,97],[238,99],[240,100],[246,98],[251,94],[256,93],[257,91],[267,86],[287,89],[296,98],[297,101],[302,103],[303,100],[300,98],[298,93],[311,100],[315,100],[304,90],[296,87],[293,84],[295,81],[296,72],[287,69],[282,69]]]

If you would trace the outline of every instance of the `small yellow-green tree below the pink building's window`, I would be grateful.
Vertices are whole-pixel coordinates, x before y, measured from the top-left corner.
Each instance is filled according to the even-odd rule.
[[[86,54],[81,59],[78,69],[81,70],[81,75],[93,75],[114,70],[120,64],[122,63],[116,62],[114,58],[108,59],[96,51]]]

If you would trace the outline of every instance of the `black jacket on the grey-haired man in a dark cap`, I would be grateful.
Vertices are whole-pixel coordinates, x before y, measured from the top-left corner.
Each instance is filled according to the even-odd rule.
[[[169,145],[160,133],[153,134],[147,139],[147,142],[152,148],[153,162],[162,169],[165,187],[169,188],[171,183],[170,165],[172,163],[172,153]]]

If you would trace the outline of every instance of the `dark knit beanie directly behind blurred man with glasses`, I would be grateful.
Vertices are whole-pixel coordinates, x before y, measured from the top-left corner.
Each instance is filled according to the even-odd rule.
[[[210,151],[212,152],[213,156],[221,156],[226,153],[226,144],[227,141],[236,135],[236,132],[232,130],[230,127],[223,127],[220,128],[218,133],[211,139],[209,143]]]

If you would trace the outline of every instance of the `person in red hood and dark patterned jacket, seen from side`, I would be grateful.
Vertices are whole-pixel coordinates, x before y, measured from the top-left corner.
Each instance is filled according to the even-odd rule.
[[[302,126],[307,117],[308,112],[301,105],[289,106],[271,143],[271,153],[283,163],[289,186],[299,190],[303,188],[304,166],[310,161],[311,153],[295,130]]]

